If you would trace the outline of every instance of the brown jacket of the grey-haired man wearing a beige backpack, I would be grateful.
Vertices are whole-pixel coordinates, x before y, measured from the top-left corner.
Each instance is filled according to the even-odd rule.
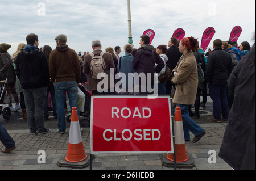
[[[97,54],[97,53],[101,53],[102,50],[95,50],[94,52],[92,52],[93,54]],[[110,68],[114,68],[115,69],[115,64],[114,64],[114,60],[112,57],[112,54],[110,53],[105,53],[104,56],[104,61],[105,61],[105,65],[106,65],[106,69],[108,70],[108,78],[109,78],[109,82],[110,82]],[[87,54],[85,56],[85,60],[84,60],[84,74],[88,74],[88,90],[89,91],[95,91],[97,90],[97,85],[99,82],[101,82],[101,80],[97,80],[97,79],[93,79],[92,78],[92,74],[90,72],[90,62],[92,61],[92,56],[90,56],[89,54]],[[114,78],[114,77],[112,77]],[[113,79],[114,81],[114,79]],[[108,85],[108,88],[112,88],[114,87],[114,85]]]

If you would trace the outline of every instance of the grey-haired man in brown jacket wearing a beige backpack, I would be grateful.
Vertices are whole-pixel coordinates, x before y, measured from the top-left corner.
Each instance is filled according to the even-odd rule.
[[[92,41],[92,49],[93,49],[93,55],[96,54],[101,54],[102,50],[101,50],[101,42],[98,40]],[[110,53],[104,53],[104,55],[102,56],[104,61],[105,61],[105,65],[106,65],[106,71],[107,71],[107,75],[108,75],[108,85],[102,85],[103,86],[103,91],[104,93],[114,93],[114,71],[115,71],[115,64],[114,64],[114,60],[112,57],[112,54]],[[90,71],[90,64],[92,61],[92,56],[90,54],[87,54],[85,56],[85,61],[84,61],[84,74],[88,74],[88,90],[92,92],[92,94],[101,94],[102,93],[102,86],[98,86],[97,89],[97,85],[98,83],[100,83],[102,81],[102,79],[94,79],[92,78],[92,72]],[[113,72],[112,73],[110,73]],[[107,88],[106,88],[107,87]],[[99,89],[100,88],[100,89]]]

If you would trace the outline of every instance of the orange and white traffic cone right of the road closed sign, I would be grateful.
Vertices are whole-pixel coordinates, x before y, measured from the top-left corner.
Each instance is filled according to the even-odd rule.
[[[176,162],[185,162],[189,158],[188,158],[186,147],[185,147],[185,138],[184,138],[180,107],[176,107],[176,111],[175,111],[174,136],[175,136]],[[167,154],[166,158],[169,159],[170,161],[174,161],[174,154]]]

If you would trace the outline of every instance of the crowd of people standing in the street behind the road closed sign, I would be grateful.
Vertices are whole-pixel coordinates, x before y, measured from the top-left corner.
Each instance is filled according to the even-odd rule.
[[[53,116],[58,119],[58,131],[64,133],[67,128],[65,94],[67,92],[70,107],[77,107],[77,85],[79,83],[88,82],[87,88],[93,95],[134,94],[136,90],[139,94],[152,94],[143,87],[145,84],[141,79],[132,78],[132,83],[129,83],[129,73],[150,74],[150,77],[146,77],[146,86],[154,87],[155,73],[158,73],[160,77],[166,74],[168,68],[171,71],[171,79],[165,79],[165,81],[158,79],[158,94],[172,95],[174,108],[181,108],[185,141],[190,141],[189,133],[192,132],[195,135],[193,142],[199,141],[205,134],[205,130],[191,117],[196,119],[200,117],[199,107],[204,107],[207,102],[207,86],[213,100],[213,117],[207,120],[218,123],[228,121],[229,109],[236,100],[233,87],[227,86],[228,78],[232,70],[240,66],[238,62],[241,58],[250,54],[251,49],[247,41],[243,41],[237,47],[236,42],[216,39],[213,41],[213,51],[208,49],[208,52],[204,54],[194,37],[185,37],[181,41],[171,37],[168,45],[159,45],[155,48],[150,45],[150,37],[144,35],[140,37],[138,49],[131,44],[126,44],[123,47],[125,55],[120,57],[121,47],[108,47],[102,50],[99,40],[92,41],[93,52],[84,52],[84,55],[81,52],[77,54],[75,50],[69,48],[66,44],[67,36],[63,34],[55,38],[56,49],[54,50],[48,45],[39,49],[38,36],[32,33],[26,37],[26,41],[27,45],[19,44],[13,57],[7,52],[11,45],[0,44],[0,72],[9,76],[7,104],[11,111],[18,111],[22,108],[22,117],[27,119],[30,134],[44,134],[50,131],[49,128],[44,127],[44,120],[47,120],[49,116],[48,108],[51,107],[48,104],[49,95],[51,95]],[[97,59],[95,57],[102,58],[102,63],[98,62],[98,65],[102,65],[104,73],[108,75],[106,76],[108,89],[103,92],[98,90],[102,79],[95,78],[95,73],[100,71],[93,67]],[[100,61],[98,59],[97,61]],[[110,69],[114,69],[114,77],[110,74]],[[203,71],[203,81],[200,81],[199,71]],[[110,83],[112,80],[117,83],[117,79],[121,80],[121,89],[118,92],[112,91],[115,85]],[[16,87],[20,93],[20,102]],[[200,101],[201,94],[203,95],[202,101]],[[16,103],[14,108],[11,95]],[[191,105],[195,106],[195,113],[191,111]],[[79,109],[77,112],[79,114]],[[6,149],[2,151],[8,153],[15,148],[15,145],[3,131],[2,125],[0,129],[1,141],[4,144],[9,142],[5,144]]]

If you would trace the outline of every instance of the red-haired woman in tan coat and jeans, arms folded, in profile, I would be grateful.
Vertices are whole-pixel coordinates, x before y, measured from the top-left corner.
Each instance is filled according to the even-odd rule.
[[[177,66],[172,70],[172,83],[176,85],[172,102],[180,107],[183,121],[185,141],[190,140],[189,131],[195,134],[193,142],[197,142],[204,136],[205,131],[189,117],[188,107],[195,103],[198,86],[198,73],[196,58],[192,50],[198,47],[198,41],[194,37],[185,37],[180,41],[179,49],[183,55]]]

